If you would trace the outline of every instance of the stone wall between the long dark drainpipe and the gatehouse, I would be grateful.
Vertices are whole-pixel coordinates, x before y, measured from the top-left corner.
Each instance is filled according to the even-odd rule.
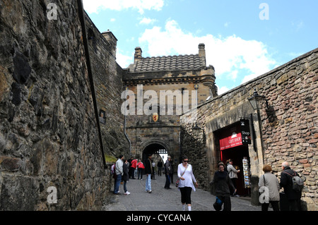
[[[98,112],[105,112],[105,123],[100,122],[104,152],[113,157],[119,154],[128,157],[129,142],[124,135],[124,115],[121,111],[123,71],[116,62],[116,43],[111,39],[107,41],[87,15],[86,30]],[[108,35],[117,41],[111,32]]]

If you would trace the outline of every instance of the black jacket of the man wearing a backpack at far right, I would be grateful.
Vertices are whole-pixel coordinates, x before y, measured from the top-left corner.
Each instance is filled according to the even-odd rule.
[[[284,171],[281,172],[281,183],[279,183],[281,188],[284,188],[284,193],[287,196],[288,200],[298,200],[300,199],[300,197],[302,197],[302,192],[297,192],[293,190],[292,176],[286,173],[292,176],[293,174],[296,174],[297,176],[299,175],[297,174],[297,172],[293,171],[293,169],[290,169],[290,167],[287,166],[285,167]]]

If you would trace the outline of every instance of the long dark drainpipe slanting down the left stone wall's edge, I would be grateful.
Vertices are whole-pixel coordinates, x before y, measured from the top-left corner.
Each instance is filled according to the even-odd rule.
[[[104,168],[106,168],[106,161],[105,161],[105,154],[104,154],[104,147],[102,145],[102,132],[100,130],[100,120],[98,118],[98,106],[95,96],[95,87],[94,87],[94,80],[93,80],[93,72],[92,68],[90,67],[90,54],[88,51],[88,39],[86,35],[86,25],[85,25],[85,16],[84,16],[84,8],[83,8],[83,2],[82,0],[77,1],[78,5],[78,17],[81,22],[82,32],[83,32],[83,44],[85,49],[85,56],[86,56],[86,66],[88,70],[88,78],[90,80],[90,90],[93,98],[93,106],[95,111],[95,119],[98,126],[98,138],[100,139],[100,150],[102,151],[102,163],[104,164]]]

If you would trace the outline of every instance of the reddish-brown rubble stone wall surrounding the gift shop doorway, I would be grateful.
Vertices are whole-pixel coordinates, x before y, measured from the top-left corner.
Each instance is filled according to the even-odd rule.
[[[260,111],[264,151],[263,155],[258,156],[258,160],[261,161],[260,164],[270,164],[278,178],[281,174],[281,163],[289,162],[305,180],[302,200],[307,203],[307,209],[317,210],[317,87],[318,49],[314,49],[269,73],[211,99],[206,104],[201,104],[198,109],[197,124],[203,128],[199,135],[204,138],[198,139],[192,134],[194,124],[189,123],[191,117],[189,114],[181,116],[182,151],[189,155],[189,159],[195,165],[194,174],[199,177],[200,174],[204,174],[199,179],[199,183],[204,183],[206,188],[206,183],[211,181],[211,174],[213,174],[211,164],[216,165],[213,159],[216,161],[219,157],[213,135],[207,133],[209,121],[216,118],[223,118],[222,121],[216,121],[223,124],[238,121],[240,116],[245,116],[249,107],[247,99],[252,96],[256,88],[259,95],[263,95],[268,101],[268,107],[266,108],[264,102]],[[236,117],[231,114],[235,111]],[[206,159],[205,162],[204,159]],[[215,171],[216,166],[212,170]]]

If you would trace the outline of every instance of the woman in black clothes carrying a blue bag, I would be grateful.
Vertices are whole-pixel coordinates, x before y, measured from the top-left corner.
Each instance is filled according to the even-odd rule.
[[[212,186],[214,186],[216,190],[216,197],[217,200],[220,200],[220,205],[217,208],[215,205],[213,205],[217,211],[219,211],[224,204],[223,211],[230,211],[231,210],[231,200],[230,200],[230,188],[233,188],[233,190],[236,189],[232,184],[232,181],[230,179],[230,176],[226,171],[224,171],[225,166],[223,162],[220,162],[218,164],[218,171],[214,173],[213,181],[210,183]]]

